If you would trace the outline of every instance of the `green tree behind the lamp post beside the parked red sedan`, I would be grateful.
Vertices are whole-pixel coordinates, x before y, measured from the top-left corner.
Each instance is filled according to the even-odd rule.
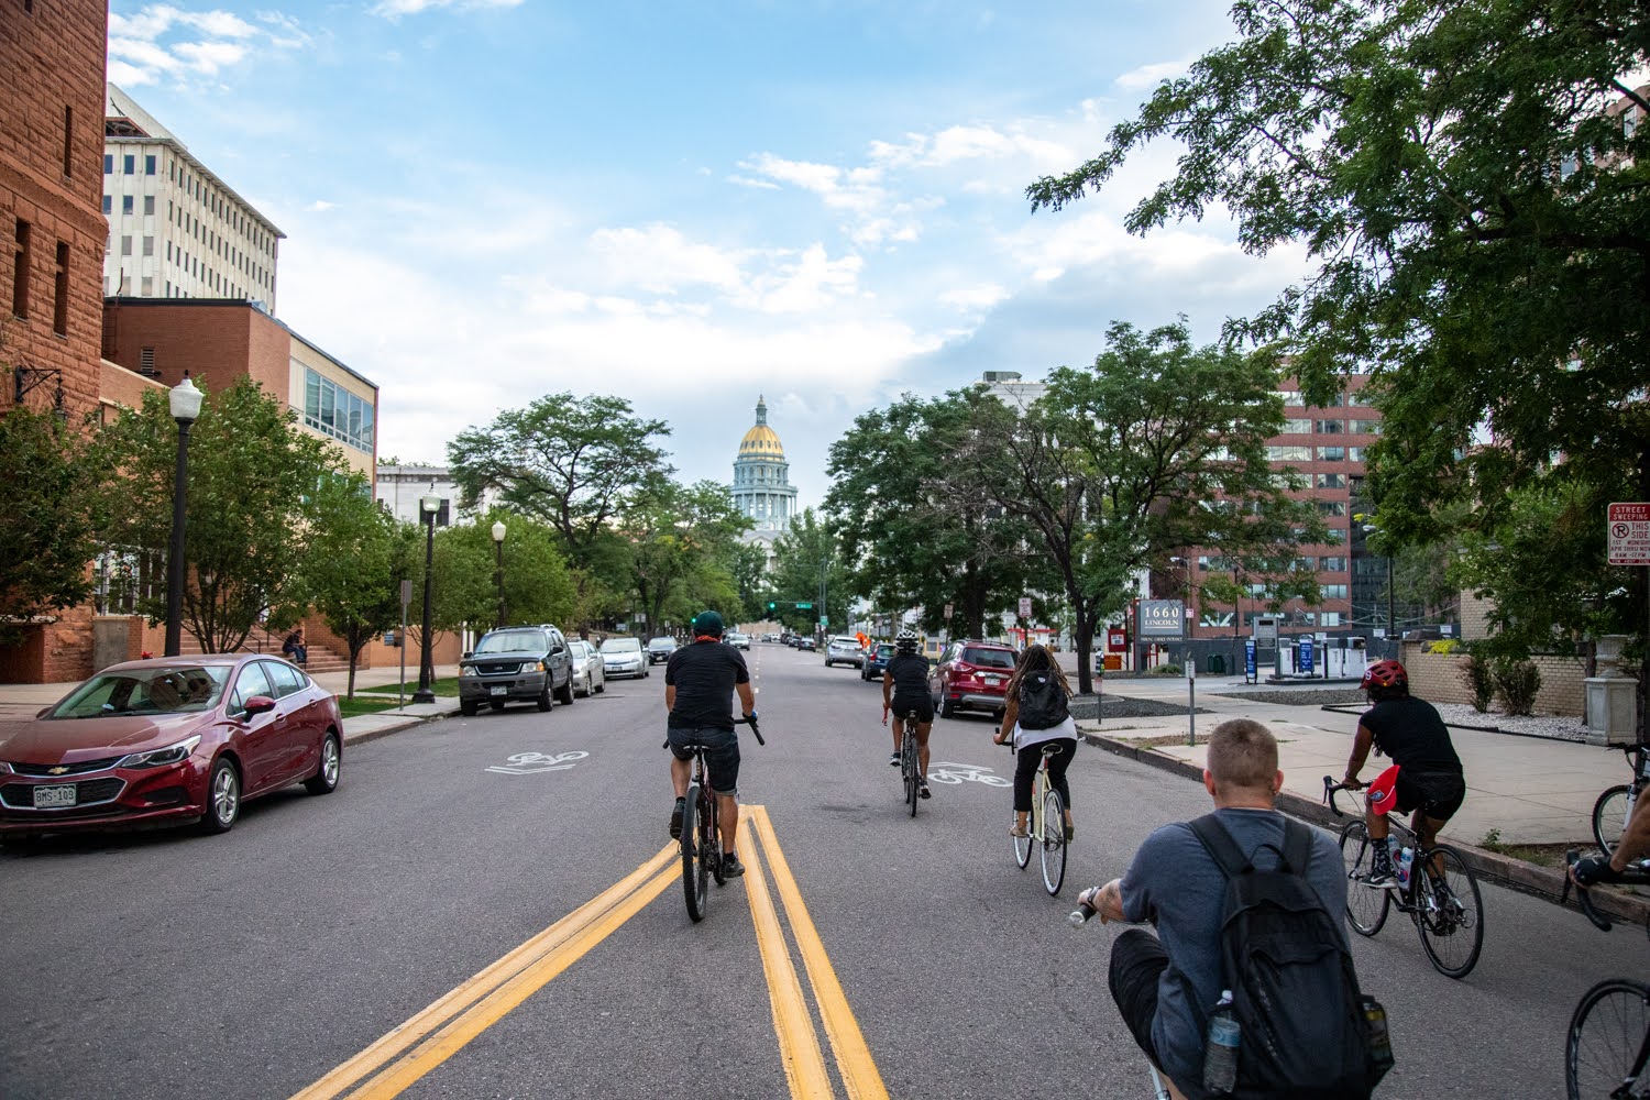
[[[295,421],[282,401],[239,378],[206,394],[190,430],[183,628],[208,653],[238,650],[267,610],[279,620],[302,609],[315,493],[345,467],[337,447]],[[145,393],[139,409],[104,424],[94,460],[119,472],[97,490],[107,546],[165,556],[177,449],[165,393]],[[142,609],[160,622],[165,592]]]

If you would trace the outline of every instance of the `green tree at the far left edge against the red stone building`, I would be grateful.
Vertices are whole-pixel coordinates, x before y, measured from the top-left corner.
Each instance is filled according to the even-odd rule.
[[[91,594],[94,470],[84,437],[54,416],[23,406],[0,414],[0,480],[12,487],[0,523],[0,645],[23,642],[36,617]]]

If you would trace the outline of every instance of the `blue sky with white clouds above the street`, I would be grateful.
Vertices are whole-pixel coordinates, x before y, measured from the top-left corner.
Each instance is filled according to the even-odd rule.
[[[287,234],[276,313],[380,386],[380,457],[607,393],[729,482],[761,394],[817,506],[901,394],[1092,363],[1114,320],[1214,340],[1302,275],[1221,211],[1127,234],[1168,143],[1025,198],[1226,7],[112,0],[109,79]]]

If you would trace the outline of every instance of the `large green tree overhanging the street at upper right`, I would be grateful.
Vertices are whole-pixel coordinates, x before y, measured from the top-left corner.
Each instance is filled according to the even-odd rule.
[[[1224,204],[1247,251],[1305,246],[1313,274],[1228,330],[1289,356],[1317,399],[1336,373],[1374,371],[1370,488],[1398,544],[1447,539],[1450,501],[1492,531],[1534,480],[1625,478],[1650,500],[1650,125],[1619,109],[1650,110],[1622,79],[1650,56],[1650,8],[1244,0],[1233,20],[1236,43],[1162,84],[1094,160],[1035,183],[1033,206],[1170,137],[1178,173],[1130,231]],[[1602,556],[1574,566],[1587,587],[1607,579]],[[1564,630],[1531,613],[1525,628]]]

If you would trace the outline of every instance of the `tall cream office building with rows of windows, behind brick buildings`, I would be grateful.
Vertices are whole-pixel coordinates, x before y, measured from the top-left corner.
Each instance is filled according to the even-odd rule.
[[[104,115],[104,295],[241,299],[274,315],[285,234],[114,84]]]

